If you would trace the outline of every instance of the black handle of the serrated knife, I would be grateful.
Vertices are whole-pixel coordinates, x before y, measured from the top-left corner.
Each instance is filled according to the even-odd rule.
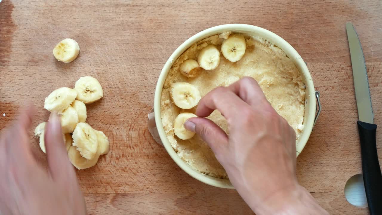
[[[378,161],[377,125],[358,121],[361,140],[362,172],[370,215],[382,214],[382,174]]]

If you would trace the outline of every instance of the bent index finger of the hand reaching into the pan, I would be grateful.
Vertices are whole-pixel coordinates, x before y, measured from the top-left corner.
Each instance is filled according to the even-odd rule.
[[[248,107],[249,105],[232,90],[220,86],[211,90],[199,101],[196,108],[196,115],[199,117],[207,117],[214,110],[219,110],[227,120],[230,120]]]

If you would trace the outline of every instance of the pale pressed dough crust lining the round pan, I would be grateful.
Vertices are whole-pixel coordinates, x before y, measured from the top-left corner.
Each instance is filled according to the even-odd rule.
[[[305,85],[301,74],[286,54],[270,42],[244,35],[246,38],[246,52],[235,63],[225,59],[220,54],[220,64],[215,70],[202,70],[195,78],[183,76],[179,67],[187,59],[197,59],[198,52],[207,45],[213,44],[220,50],[224,38],[230,33],[214,35],[197,42],[189,47],[175,60],[163,85],[160,112],[163,128],[168,141],[188,165],[201,173],[227,179],[227,173],[216,160],[208,145],[198,136],[189,140],[181,140],[174,134],[173,122],[181,112],[195,113],[196,107],[183,110],[172,102],[169,88],[176,82],[188,82],[195,85],[201,96],[218,86],[228,86],[241,77],[253,77],[259,82],[261,89],[273,108],[295,129],[296,138],[303,129]],[[219,111],[214,111],[209,117],[229,134],[225,118]]]

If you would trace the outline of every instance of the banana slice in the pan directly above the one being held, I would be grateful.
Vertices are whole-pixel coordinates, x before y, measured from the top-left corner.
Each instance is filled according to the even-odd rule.
[[[173,83],[170,94],[175,105],[182,109],[195,107],[202,98],[196,86],[186,82]]]

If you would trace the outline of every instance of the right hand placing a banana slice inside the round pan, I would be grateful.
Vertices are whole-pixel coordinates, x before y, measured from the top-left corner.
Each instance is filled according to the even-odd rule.
[[[230,134],[207,118],[215,109]],[[277,114],[253,78],[242,78],[204,96],[197,118],[185,127],[214,151],[231,183],[258,215],[327,214],[296,179],[296,134]]]

